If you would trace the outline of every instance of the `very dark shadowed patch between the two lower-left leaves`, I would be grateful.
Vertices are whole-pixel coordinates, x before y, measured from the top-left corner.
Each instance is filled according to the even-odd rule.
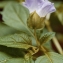
[[[27,50],[0,45],[0,51],[8,54],[13,58],[24,58]]]

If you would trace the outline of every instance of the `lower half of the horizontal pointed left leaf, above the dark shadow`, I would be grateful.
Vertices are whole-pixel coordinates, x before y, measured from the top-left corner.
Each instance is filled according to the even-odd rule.
[[[23,49],[28,49],[30,48],[31,46],[28,45],[28,44],[23,44],[23,43],[13,43],[11,41],[9,42],[4,42],[4,41],[1,41],[0,42],[0,45],[5,45],[7,47],[14,47],[14,48],[23,48]],[[26,47],[25,47],[26,46]]]

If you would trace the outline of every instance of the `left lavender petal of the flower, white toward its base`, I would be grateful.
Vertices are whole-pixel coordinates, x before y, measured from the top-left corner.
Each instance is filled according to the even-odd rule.
[[[42,0],[25,0],[23,5],[29,9],[30,13],[32,13],[42,6]]]

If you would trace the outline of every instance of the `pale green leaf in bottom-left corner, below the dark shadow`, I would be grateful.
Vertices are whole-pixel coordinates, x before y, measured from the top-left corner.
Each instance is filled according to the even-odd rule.
[[[24,58],[12,58],[9,55],[0,52],[0,63],[34,63],[33,60],[26,60]]]

